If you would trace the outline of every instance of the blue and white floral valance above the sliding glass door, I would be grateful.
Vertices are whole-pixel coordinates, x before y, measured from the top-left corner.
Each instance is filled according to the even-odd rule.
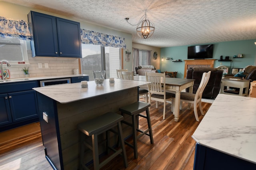
[[[102,34],[100,32],[88,31],[81,29],[82,44],[94,44],[102,46],[110,46],[116,48],[126,48],[124,38]]]

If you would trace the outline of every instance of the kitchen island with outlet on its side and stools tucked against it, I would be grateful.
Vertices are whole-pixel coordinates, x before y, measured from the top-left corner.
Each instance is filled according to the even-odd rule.
[[[46,159],[53,168],[77,170],[80,141],[77,124],[106,112],[118,112],[121,106],[136,102],[138,86],[148,83],[121,79],[109,83],[106,79],[103,86],[90,81],[88,88],[81,88],[81,83],[33,88],[38,99]],[[130,133],[123,131],[124,136]],[[92,155],[88,154],[86,159],[91,160]]]

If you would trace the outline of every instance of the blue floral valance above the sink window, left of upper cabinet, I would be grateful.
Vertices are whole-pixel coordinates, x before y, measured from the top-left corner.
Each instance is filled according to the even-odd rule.
[[[0,37],[30,40],[28,22],[6,19],[0,16]]]

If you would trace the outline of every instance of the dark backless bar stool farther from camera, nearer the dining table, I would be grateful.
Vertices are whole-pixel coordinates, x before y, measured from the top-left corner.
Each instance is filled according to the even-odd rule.
[[[119,108],[119,111],[121,111],[122,115],[125,113],[125,114],[132,116],[132,124],[129,122],[126,122],[124,120],[122,120],[122,123],[127,124],[128,126],[132,127],[133,145],[126,141],[124,141],[124,143],[127,144],[128,146],[130,146],[131,148],[133,148],[135,159],[138,158],[138,147],[137,147],[137,139],[138,138],[140,138],[141,136],[143,136],[145,134],[150,137],[150,143],[151,144],[154,143],[149,109],[148,109],[149,107],[150,107],[150,104],[138,101],[138,102],[134,102],[132,104],[129,104],[127,106]],[[146,111],[146,116],[140,114],[144,111]],[[148,129],[145,130],[144,132],[138,128],[138,124],[139,124],[138,116],[146,118],[148,121]],[[141,132],[141,134],[139,134],[137,136],[137,132]],[[147,133],[147,132],[149,132],[149,133]]]

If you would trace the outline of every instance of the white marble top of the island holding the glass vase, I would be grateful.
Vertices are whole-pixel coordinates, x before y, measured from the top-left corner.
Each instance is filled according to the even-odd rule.
[[[97,86],[94,81],[89,81],[88,88],[81,88],[81,83],[72,83],[33,89],[56,100],[57,102],[69,103],[150,83],[116,78],[114,81],[115,83],[109,83],[109,79],[106,79],[104,80],[103,86]]]

